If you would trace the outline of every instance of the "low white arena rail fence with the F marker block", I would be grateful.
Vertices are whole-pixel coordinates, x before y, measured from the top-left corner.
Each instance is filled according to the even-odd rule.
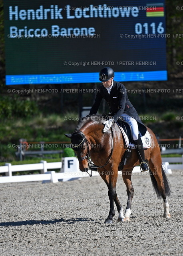
[[[63,167],[64,159],[70,163],[69,168]],[[72,162],[76,161],[76,162]],[[163,165],[167,173],[171,174],[173,169],[183,169],[183,156],[181,157],[165,157],[162,158]],[[66,161],[65,161],[66,162]],[[172,164],[169,164],[172,163]],[[178,164],[177,164],[178,163]],[[66,164],[65,164],[66,166]],[[58,169],[60,172],[55,172]],[[12,176],[13,172],[38,170],[40,174],[16,175]],[[140,172],[139,166],[133,169],[133,173]],[[67,181],[76,178],[88,177],[88,173],[81,172],[78,166],[77,158],[63,158],[62,162],[47,163],[41,161],[39,164],[20,164],[12,165],[6,163],[5,166],[0,166],[0,174],[5,173],[5,176],[0,177],[0,183],[6,182],[27,182],[27,181],[43,181],[43,182],[58,182],[60,180]],[[98,172],[93,172],[93,176],[98,176]]]

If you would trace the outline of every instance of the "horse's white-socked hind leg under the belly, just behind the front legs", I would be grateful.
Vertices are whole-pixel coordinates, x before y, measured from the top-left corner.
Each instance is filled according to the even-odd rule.
[[[129,216],[131,214],[131,202],[133,199],[133,192],[134,192],[134,188],[132,186],[131,183],[131,172],[133,169],[127,169],[122,171],[122,177],[123,177],[123,181],[126,185],[126,191],[127,191],[127,196],[128,196],[128,201],[127,201],[127,206],[126,206],[126,210],[125,210],[125,221],[129,220]]]

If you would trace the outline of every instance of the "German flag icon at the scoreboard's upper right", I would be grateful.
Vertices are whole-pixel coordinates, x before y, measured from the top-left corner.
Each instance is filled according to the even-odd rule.
[[[164,16],[164,4],[152,3],[146,4],[146,17],[163,17]]]

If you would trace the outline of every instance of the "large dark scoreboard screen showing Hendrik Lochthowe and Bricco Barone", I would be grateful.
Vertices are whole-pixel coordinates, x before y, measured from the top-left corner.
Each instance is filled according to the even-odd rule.
[[[167,80],[165,1],[4,0],[6,84]]]

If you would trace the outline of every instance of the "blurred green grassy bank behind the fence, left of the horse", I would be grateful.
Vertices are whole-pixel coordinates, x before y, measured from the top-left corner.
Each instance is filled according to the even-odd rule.
[[[65,118],[67,120],[64,119],[65,116],[67,116]],[[16,160],[15,152],[18,150],[20,138],[26,139],[27,142],[70,141],[64,133],[74,131],[78,122],[74,122],[71,118],[76,119],[77,117],[78,114],[72,112],[64,116],[39,114],[31,118],[12,117],[11,120],[2,120],[0,126],[0,162]],[[58,148],[55,149],[62,150],[63,148],[61,144],[58,144]],[[40,149],[35,148],[34,150]],[[47,148],[47,150],[50,150],[50,148]]]

